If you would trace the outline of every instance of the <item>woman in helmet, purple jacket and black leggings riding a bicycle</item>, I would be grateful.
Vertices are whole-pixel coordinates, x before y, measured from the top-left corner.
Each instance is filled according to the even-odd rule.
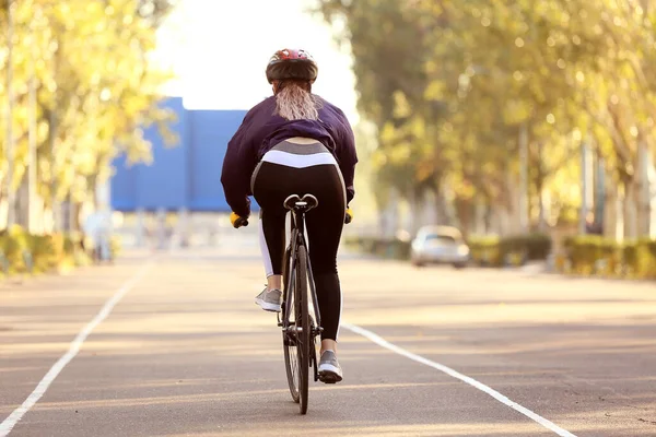
[[[341,290],[337,249],[344,221],[350,221],[353,176],[358,155],[344,114],[312,94],[318,68],[307,51],[277,51],[267,67],[273,96],[246,114],[227,144],[221,182],[235,227],[250,214],[248,196],[260,205],[260,247],[267,287],[255,302],[280,311],[285,248],[283,201],[290,194],[314,194],[316,209],[306,216],[309,258],[321,312],[319,378],[339,382],[337,338]]]

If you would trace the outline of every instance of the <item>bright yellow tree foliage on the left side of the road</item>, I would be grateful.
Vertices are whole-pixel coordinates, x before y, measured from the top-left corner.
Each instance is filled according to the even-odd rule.
[[[119,151],[132,161],[148,161],[150,144],[141,127],[156,122],[175,141],[166,129],[172,115],[156,106],[171,74],[149,62],[156,26],[174,5],[161,0],[13,3],[13,189],[25,180],[30,165],[32,78],[37,83],[38,193],[48,208],[65,199],[93,200],[95,184],[110,176],[109,164]],[[0,13],[5,21],[7,9]],[[0,47],[5,44],[0,39]],[[5,155],[0,158],[7,165]]]

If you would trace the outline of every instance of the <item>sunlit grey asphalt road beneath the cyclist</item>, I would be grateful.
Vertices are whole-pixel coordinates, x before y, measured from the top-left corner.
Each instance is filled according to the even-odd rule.
[[[656,436],[654,283],[354,256],[340,273],[344,381],[313,383],[306,416],[253,302],[255,241],[4,283],[0,436]]]

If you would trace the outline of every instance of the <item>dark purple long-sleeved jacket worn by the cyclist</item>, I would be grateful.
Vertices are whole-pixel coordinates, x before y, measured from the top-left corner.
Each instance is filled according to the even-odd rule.
[[[290,121],[274,115],[274,96],[246,114],[227,143],[221,173],[225,200],[235,213],[243,217],[250,215],[250,176],[257,163],[276,144],[293,137],[313,138],[332,152],[347,186],[347,204],[353,199],[353,176],[358,163],[353,130],[341,109],[324,99],[321,103],[318,120]]]

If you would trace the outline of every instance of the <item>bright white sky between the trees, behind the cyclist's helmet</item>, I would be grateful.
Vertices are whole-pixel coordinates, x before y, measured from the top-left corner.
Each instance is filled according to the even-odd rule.
[[[190,109],[249,109],[271,95],[265,70],[281,48],[308,50],[319,66],[313,92],[359,120],[351,54],[306,12],[313,0],[181,0],[160,29],[156,58],[178,80],[167,94]]]

